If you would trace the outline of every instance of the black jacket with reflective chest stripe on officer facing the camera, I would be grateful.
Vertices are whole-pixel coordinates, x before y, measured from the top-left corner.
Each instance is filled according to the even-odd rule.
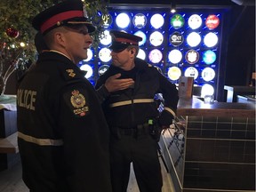
[[[120,78],[133,78],[134,86],[129,89],[108,93],[104,84],[109,76],[121,73]],[[135,68],[124,71],[111,65],[108,71],[100,76],[96,90],[110,127],[131,128],[144,124],[148,118],[159,116],[156,94],[162,93],[164,111],[159,117],[161,125],[172,124],[179,100],[175,84],[169,82],[156,68],[144,60],[136,59]]]

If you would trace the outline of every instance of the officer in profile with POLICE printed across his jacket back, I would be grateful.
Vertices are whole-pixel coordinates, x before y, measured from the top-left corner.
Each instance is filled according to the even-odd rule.
[[[108,125],[97,93],[76,66],[94,26],[79,0],[53,5],[32,22],[50,50],[17,92],[23,180],[32,192],[111,192]]]

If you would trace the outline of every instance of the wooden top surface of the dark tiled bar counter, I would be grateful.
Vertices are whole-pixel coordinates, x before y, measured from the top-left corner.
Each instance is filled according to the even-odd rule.
[[[177,116],[247,116],[255,118],[255,105],[234,102],[205,104],[204,101],[193,97],[179,100]]]

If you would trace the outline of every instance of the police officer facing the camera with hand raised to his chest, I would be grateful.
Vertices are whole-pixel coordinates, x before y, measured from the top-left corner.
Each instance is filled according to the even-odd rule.
[[[175,84],[169,82],[146,61],[136,58],[139,36],[110,31],[112,65],[100,76],[96,89],[111,132],[110,164],[114,192],[127,189],[132,163],[140,192],[160,192],[163,181],[157,156],[158,126],[169,127],[179,100]],[[108,92],[109,76],[132,78],[124,90]],[[125,83],[124,83],[125,84]],[[155,96],[162,93],[164,110],[159,112]]]

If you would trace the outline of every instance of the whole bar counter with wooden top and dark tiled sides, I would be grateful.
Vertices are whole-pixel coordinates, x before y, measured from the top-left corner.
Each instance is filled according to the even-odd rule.
[[[180,99],[159,141],[176,192],[255,191],[255,105]]]

